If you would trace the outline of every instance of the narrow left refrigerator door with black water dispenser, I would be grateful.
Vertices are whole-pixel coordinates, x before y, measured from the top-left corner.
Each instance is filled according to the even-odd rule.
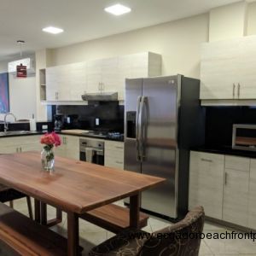
[[[125,170],[141,172],[138,160],[137,126],[140,102],[143,93],[143,79],[125,80]]]

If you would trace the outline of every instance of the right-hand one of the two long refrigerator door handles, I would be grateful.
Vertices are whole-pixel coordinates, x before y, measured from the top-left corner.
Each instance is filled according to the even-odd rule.
[[[146,138],[147,138],[147,125],[148,125],[148,108],[147,108],[147,104],[148,104],[148,97],[147,96],[143,96],[142,97],[142,109],[141,109],[141,122],[142,122],[142,126],[141,126],[141,160],[145,160],[146,157]]]

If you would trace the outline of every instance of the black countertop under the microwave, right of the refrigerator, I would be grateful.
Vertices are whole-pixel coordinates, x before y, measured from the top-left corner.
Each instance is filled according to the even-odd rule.
[[[200,147],[190,148],[190,150],[201,151],[201,152],[212,153],[212,154],[229,154],[229,155],[256,158],[256,151],[232,149],[231,146],[218,146],[218,147],[200,146]]]

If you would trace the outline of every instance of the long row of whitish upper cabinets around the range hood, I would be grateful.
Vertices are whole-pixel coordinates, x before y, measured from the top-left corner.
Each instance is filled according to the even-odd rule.
[[[125,98],[125,79],[161,75],[161,55],[144,52],[46,68],[47,101],[81,101],[84,93],[118,92]]]

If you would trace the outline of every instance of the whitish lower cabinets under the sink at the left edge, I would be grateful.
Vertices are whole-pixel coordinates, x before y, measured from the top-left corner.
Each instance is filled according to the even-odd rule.
[[[40,135],[15,136],[0,138],[0,154],[11,154],[25,151],[41,151]]]

